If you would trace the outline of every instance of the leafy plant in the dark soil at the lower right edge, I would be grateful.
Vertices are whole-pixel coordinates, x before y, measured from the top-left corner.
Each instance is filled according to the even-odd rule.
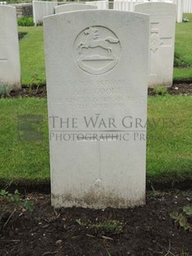
[[[192,231],[192,223],[190,223],[192,217],[192,206],[184,206],[181,212],[173,211],[170,216],[175,220],[175,223],[184,228],[184,230]]]

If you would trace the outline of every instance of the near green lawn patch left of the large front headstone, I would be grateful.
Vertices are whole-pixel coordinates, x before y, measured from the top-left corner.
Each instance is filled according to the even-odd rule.
[[[49,179],[49,142],[46,100],[0,100],[0,179],[42,183]],[[43,115],[43,140],[26,141],[19,135],[18,116]]]

